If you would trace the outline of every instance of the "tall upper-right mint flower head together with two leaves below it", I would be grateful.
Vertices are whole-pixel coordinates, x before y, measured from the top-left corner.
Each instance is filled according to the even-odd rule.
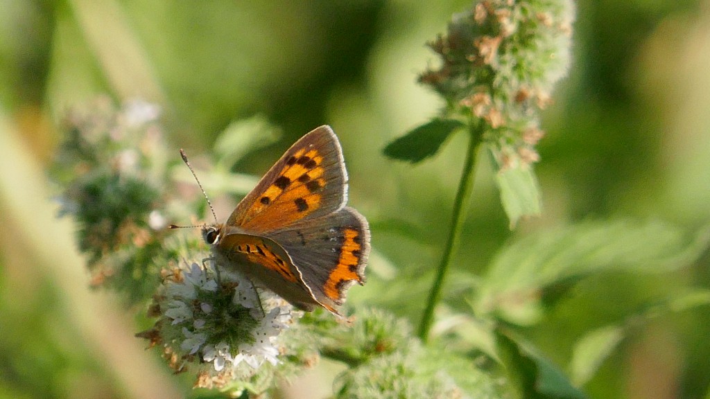
[[[454,14],[447,33],[429,43],[439,55],[437,66],[419,77],[442,97],[444,108],[389,143],[385,155],[418,163],[438,153],[454,132],[466,131],[471,140],[458,203],[466,203],[472,187],[480,144],[491,155],[510,227],[540,214],[532,168],[544,136],[540,111],[567,75],[573,21],[572,0],[482,0]]]

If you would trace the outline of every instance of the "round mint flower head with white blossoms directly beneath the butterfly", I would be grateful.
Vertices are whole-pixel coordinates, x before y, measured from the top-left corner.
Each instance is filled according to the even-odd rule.
[[[158,320],[139,337],[162,345],[176,372],[195,371],[195,386],[224,388],[280,363],[278,336],[295,311],[275,296],[260,298],[239,275],[182,263],[164,273],[149,314]]]

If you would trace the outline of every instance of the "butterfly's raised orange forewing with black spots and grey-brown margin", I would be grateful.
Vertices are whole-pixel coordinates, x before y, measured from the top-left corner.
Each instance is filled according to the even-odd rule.
[[[262,234],[344,207],[347,173],[329,126],[300,138],[239,202],[226,226]]]

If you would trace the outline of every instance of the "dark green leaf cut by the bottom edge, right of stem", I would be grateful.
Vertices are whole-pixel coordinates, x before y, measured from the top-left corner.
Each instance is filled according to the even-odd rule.
[[[496,331],[496,346],[503,365],[520,392],[520,398],[584,399],[555,364],[532,349],[519,344],[507,334]]]

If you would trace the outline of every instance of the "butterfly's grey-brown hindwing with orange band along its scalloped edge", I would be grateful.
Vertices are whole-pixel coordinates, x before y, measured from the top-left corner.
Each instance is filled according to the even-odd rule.
[[[337,313],[351,285],[365,283],[370,231],[355,209],[344,207],[266,236],[280,243],[315,300],[331,312]]]

